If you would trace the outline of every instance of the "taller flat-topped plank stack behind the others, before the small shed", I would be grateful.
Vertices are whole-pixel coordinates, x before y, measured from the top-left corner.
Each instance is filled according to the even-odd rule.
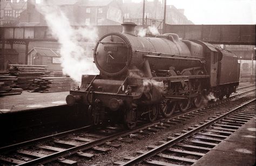
[[[17,77],[17,87],[28,89],[32,79],[45,77],[50,73],[44,65],[10,65],[9,72]]]

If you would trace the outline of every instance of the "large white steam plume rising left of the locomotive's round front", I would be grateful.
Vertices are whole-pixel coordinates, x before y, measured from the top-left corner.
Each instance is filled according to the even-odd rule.
[[[78,82],[81,81],[82,74],[98,74],[99,71],[92,62],[91,46],[82,46],[79,41],[86,40],[96,43],[98,38],[95,27],[79,27],[74,29],[69,19],[57,6],[50,6],[46,3],[36,5],[48,24],[52,36],[58,39],[62,67],[65,74]]]

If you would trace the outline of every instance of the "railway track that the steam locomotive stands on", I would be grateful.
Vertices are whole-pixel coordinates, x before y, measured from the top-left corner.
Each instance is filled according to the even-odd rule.
[[[186,113],[174,115],[169,119],[159,119],[150,124],[142,122],[139,127],[133,130],[124,131],[119,127],[110,126],[104,129],[99,129],[97,132],[84,133],[85,130],[91,128],[91,126],[87,126],[69,132],[46,136],[41,139],[2,147],[0,148],[0,164],[3,162],[3,164],[35,165],[52,161],[58,161],[65,164],[76,164],[76,161],[68,160],[64,157],[69,157],[70,155],[75,154],[84,158],[92,158],[95,155],[93,154],[93,151],[107,153],[111,148],[106,147],[118,148],[122,146],[120,143],[115,143],[116,140],[119,142],[131,143],[133,139],[143,139],[143,136],[145,135],[156,133],[158,130],[168,128],[171,125],[185,123],[191,117],[206,114],[207,110],[217,108],[217,105],[224,104],[224,102],[228,100],[241,98],[241,96],[251,92],[254,92],[254,89],[212,103],[204,109],[192,109]],[[31,146],[31,144],[33,144],[33,146]]]

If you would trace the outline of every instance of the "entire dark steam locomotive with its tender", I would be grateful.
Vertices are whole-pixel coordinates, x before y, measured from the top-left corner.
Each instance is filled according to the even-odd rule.
[[[100,74],[83,75],[79,90],[66,97],[68,105],[89,107],[95,125],[121,121],[133,128],[139,118],[200,107],[208,93],[223,99],[235,92],[240,64],[233,53],[174,33],[138,37],[136,24],[122,25],[123,33],[106,33],[96,44]]]

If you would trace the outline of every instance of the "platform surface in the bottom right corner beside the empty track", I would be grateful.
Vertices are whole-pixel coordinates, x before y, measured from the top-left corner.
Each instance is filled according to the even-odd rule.
[[[255,121],[253,117],[244,126],[219,143],[193,166],[201,165],[255,165]]]

